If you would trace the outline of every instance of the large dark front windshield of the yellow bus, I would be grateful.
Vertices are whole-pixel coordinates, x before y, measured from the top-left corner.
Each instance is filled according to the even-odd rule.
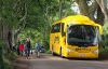
[[[68,44],[78,46],[95,46],[97,29],[90,25],[71,25],[68,27]]]

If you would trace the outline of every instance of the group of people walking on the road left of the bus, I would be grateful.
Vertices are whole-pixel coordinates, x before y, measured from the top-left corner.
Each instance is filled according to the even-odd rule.
[[[36,42],[35,49],[37,57],[40,57],[41,45],[39,41]],[[29,38],[26,39],[25,43],[18,42],[17,54],[22,56],[25,55],[27,58],[29,57],[30,54],[32,54],[32,49]]]

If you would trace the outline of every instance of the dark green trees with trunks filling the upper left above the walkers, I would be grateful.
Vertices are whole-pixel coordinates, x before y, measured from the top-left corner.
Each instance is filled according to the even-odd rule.
[[[12,50],[17,36],[30,28],[49,42],[52,23],[73,14],[71,0],[0,0],[0,39]]]

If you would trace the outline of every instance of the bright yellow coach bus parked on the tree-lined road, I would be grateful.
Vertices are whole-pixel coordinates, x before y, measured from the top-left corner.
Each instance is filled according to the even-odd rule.
[[[62,57],[98,58],[103,28],[89,17],[72,15],[52,25],[50,50]]]

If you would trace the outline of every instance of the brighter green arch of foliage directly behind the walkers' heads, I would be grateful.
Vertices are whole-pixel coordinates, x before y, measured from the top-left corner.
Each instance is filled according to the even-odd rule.
[[[41,42],[41,45],[44,46],[44,49],[46,49],[46,50],[49,49],[49,34],[46,34],[46,37],[44,37],[44,33],[42,33],[41,31],[38,31],[36,29],[30,29],[30,28],[25,29],[25,31],[23,31],[22,33],[18,34],[18,38],[24,43],[25,43],[25,40],[27,37],[31,38],[32,49],[35,47],[37,40],[39,40]]]

